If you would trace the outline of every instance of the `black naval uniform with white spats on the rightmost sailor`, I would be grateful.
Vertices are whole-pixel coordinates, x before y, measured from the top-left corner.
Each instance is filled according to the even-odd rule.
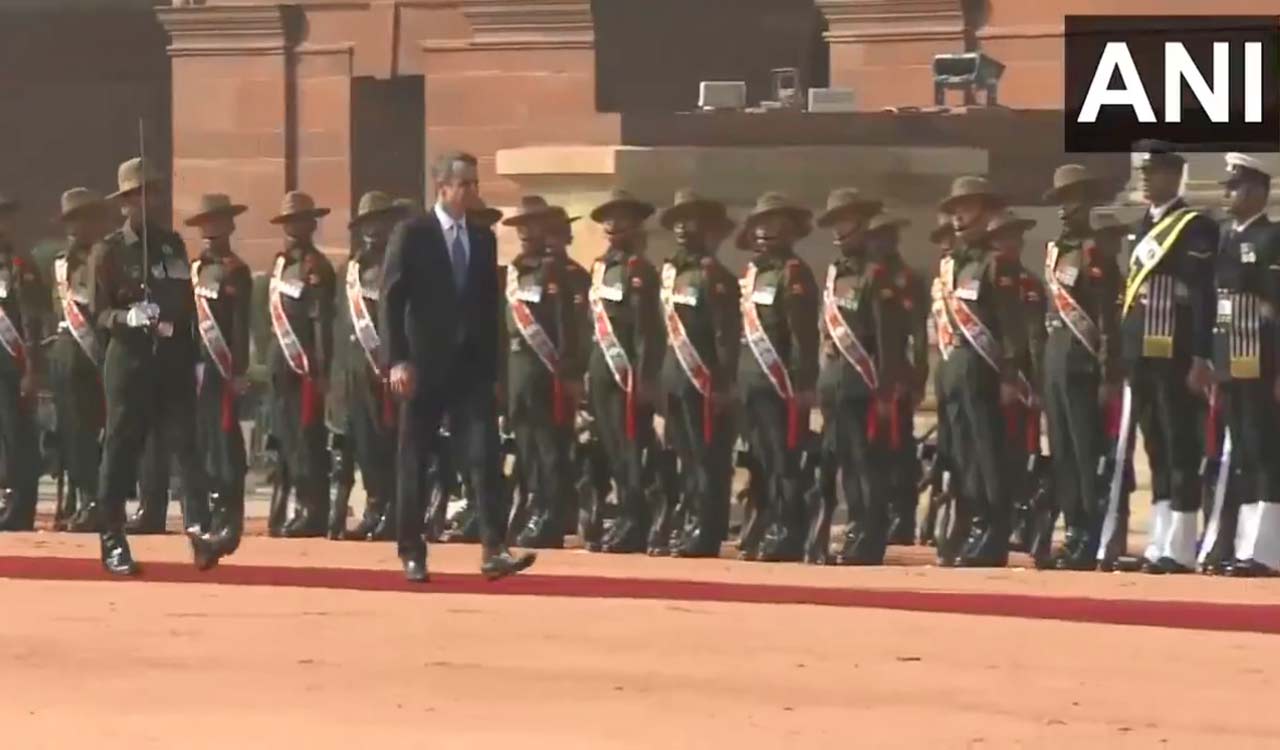
[[[1257,516],[1266,506],[1274,513],[1272,503],[1280,502],[1280,410],[1272,395],[1280,351],[1280,227],[1266,215],[1240,228],[1225,221],[1215,282],[1213,367],[1231,447],[1224,456],[1230,471],[1225,503],[1221,512],[1215,509],[1216,544],[1206,563],[1240,561],[1235,564],[1247,572],[1257,563]]]

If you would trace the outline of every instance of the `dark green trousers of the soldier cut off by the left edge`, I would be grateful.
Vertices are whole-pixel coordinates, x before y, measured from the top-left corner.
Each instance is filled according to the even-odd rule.
[[[0,517],[0,526],[31,529],[36,522],[36,485],[40,459],[36,451],[37,433],[35,399],[20,394],[22,375],[0,374],[0,440],[4,442],[4,476],[12,493]]]

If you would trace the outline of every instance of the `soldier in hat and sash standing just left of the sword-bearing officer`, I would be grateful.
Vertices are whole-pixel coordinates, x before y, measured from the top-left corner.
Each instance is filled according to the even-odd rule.
[[[102,238],[108,207],[102,197],[88,188],[63,193],[61,223],[67,243],[54,259],[49,280],[52,287],[50,319],[56,333],[49,348],[49,383],[58,410],[58,444],[67,471],[68,494],[74,491],[79,507],[67,522],[74,532],[97,531],[97,471],[102,456],[100,435],[102,402],[102,343],[88,310],[93,280],[88,255]]]

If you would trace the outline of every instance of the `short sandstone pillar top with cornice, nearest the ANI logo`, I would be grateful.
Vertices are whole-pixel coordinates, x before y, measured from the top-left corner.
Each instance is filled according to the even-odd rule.
[[[831,84],[859,109],[933,105],[933,56],[965,51],[961,0],[815,0],[827,18]]]

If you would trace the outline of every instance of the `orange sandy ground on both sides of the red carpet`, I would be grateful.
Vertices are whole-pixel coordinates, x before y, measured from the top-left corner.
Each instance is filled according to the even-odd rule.
[[[177,536],[134,540],[180,562]],[[92,538],[0,555],[92,558]],[[475,548],[431,553],[472,573]],[[1280,602],[1280,581],[545,553],[535,571],[1042,596]],[[916,563],[916,564],[906,564]],[[394,570],[248,539],[236,566]],[[497,589],[495,589],[497,591]],[[4,747],[1280,746],[1280,637],[792,604],[0,578]]]

